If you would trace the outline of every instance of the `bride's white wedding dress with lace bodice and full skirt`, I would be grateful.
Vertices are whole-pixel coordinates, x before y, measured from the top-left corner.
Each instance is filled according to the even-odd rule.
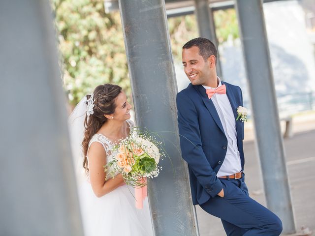
[[[134,126],[127,120],[130,129]],[[107,163],[113,159],[113,144],[102,134],[95,134],[90,143],[102,144]],[[89,159],[89,157],[88,157]],[[148,199],[143,209],[136,209],[134,188],[123,185],[97,198],[92,190],[89,177],[80,183],[79,200],[85,236],[153,236]]]

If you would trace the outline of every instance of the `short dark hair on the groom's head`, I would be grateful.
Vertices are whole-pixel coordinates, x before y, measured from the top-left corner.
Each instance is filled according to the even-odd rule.
[[[196,46],[199,48],[199,54],[203,59],[206,61],[208,58],[210,58],[211,55],[215,56],[217,59],[218,51],[216,46],[207,38],[194,38],[189,40],[185,45],[183,46],[183,49],[189,49],[193,46]],[[216,60],[217,62],[217,60]]]

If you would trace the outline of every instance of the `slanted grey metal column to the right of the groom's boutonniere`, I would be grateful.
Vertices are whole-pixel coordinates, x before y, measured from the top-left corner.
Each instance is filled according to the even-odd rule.
[[[282,219],[283,232],[294,233],[295,224],[262,2],[236,0],[236,8],[267,206]]]

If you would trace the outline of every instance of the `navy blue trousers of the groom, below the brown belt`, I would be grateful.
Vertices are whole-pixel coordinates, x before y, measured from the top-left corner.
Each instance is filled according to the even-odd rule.
[[[243,177],[220,178],[224,197],[216,196],[200,205],[211,215],[221,218],[227,236],[279,236],[282,222],[277,215],[260,205],[248,193]]]

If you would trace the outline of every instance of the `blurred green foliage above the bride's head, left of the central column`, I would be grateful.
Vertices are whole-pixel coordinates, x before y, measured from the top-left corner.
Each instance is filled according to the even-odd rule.
[[[130,96],[119,12],[105,14],[103,0],[51,0],[62,56],[63,84],[75,106],[99,84],[119,84]]]

